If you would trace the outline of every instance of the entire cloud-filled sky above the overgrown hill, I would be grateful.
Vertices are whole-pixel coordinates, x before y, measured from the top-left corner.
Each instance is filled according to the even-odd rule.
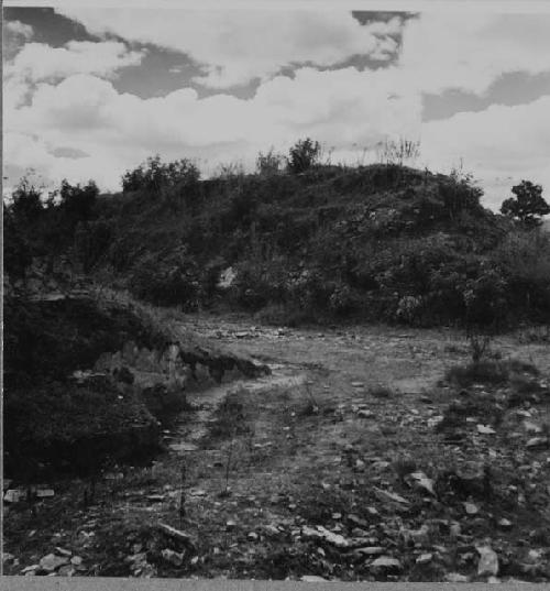
[[[91,2],[88,4],[91,7]],[[550,13],[4,8],[4,188],[33,167],[119,190],[147,156],[252,169],[310,136],[333,163],[419,140],[496,208],[550,197]]]

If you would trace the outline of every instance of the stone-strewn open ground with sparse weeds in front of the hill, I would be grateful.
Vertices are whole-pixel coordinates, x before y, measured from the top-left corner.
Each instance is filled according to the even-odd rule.
[[[498,338],[472,376],[452,331],[182,326],[271,375],[189,394],[156,461],[94,497],[12,493],[4,573],[550,580],[548,341]]]

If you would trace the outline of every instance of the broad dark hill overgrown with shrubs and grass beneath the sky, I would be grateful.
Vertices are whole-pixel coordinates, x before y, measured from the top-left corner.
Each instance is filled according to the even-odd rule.
[[[47,207],[15,200],[7,271],[69,253],[97,282],[155,305],[274,324],[549,321],[548,233],[482,207],[471,177],[395,158],[321,165],[317,143],[294,150],[286,171],[272,151],[256,174],[226,167],[200,180],[189,161],[155,157],[118,195],[64,183]]]

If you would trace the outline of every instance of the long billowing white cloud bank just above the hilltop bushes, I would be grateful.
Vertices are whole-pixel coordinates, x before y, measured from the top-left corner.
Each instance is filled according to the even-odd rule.
[[[237,158],[251,164],[258,150],[271,144],[286,150],[305,135],[341,150],[358,144],[360,152],[404,127],[418,132],[419,98],[388,99],[386,78],[385,70],[302,68],[294,79],[265,83],[249,100],[231,95],[199,99],[193,89],[145,100],[80,74],[57,85],[40,84],[31,103],[12,111],[7,131],[32,141],[40,136],[43,158],[44,152],[58,146],[90,154],[78,161],[65,158],[63,165],[75,174],[86,171],[86,177],[98,176],[100,185],[114,179],[114,185],[101,186],[118,188],[125,168],[155,152],[166,158],[204,157],[211,168]],[[8,162],[18,160],[11,142],[8,136]],[[18,142],[21,145],[21,139]],[[92,157],[98,154],[105,157]],[[44,166],[50,175],[58,172],[50,157]]]

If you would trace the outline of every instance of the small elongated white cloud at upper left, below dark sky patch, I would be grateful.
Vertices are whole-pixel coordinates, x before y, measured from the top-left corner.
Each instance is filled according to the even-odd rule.
[[[143,52],[131,52],[124,43],[114,41],[69,41],[65,47],[28,43],[6,65],[4,74],[34,83],[74,74],[112,77],[118,69],[138,65],[142,58]]]

